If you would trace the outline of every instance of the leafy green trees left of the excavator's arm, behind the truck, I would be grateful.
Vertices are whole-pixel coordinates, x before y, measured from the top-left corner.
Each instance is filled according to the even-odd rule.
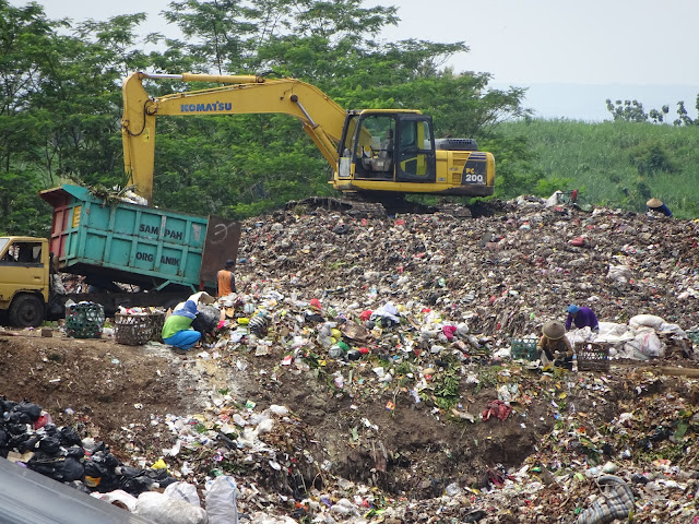
[[[14,8],[0,0],[3,229],[44,233],[50,210],[37,195],[40,189],[64,179],[123,179],[120,82],[125,72],[147,63],[134,45],[134,27],[143,20],[141,13],[86,21],[66,34],[70,22],[47,20],[40,5]]]

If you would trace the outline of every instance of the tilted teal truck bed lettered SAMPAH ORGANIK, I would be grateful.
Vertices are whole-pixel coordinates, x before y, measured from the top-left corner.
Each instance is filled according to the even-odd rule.
[[[49,249],[62,272],[143,289],[215,288],[238,250],[240,226],[224,218],[107,201],[72,184],[40,195],[54,206]]]

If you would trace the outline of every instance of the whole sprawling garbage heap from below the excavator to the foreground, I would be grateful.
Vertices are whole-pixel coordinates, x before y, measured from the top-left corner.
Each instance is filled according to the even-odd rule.
[[[254,522],[692,522],[699,224],[502,209],[246,222],[225,324],[173,357],[225,386],[127,434],[167,441],[132,463],[200,495],[233,476]],[[512,359],[569,303],[604,371]]]

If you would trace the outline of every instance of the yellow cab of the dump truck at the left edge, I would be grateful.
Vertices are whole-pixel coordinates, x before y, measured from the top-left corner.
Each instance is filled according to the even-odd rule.
[[[0,237],[0,312],[21,327],[42,325],[49,299],[48,240]]]

